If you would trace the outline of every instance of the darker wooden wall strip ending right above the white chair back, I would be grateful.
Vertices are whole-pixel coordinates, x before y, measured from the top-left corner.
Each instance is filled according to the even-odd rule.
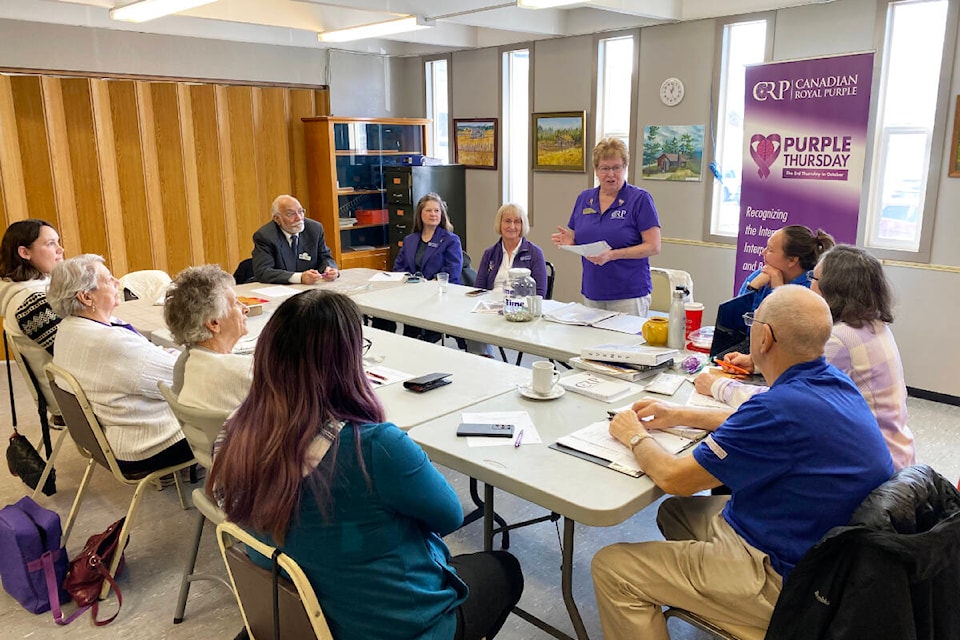
[[[136,83],[131,80],[109,80],[107,91],[110,96],[127,271],[153,269]]]

